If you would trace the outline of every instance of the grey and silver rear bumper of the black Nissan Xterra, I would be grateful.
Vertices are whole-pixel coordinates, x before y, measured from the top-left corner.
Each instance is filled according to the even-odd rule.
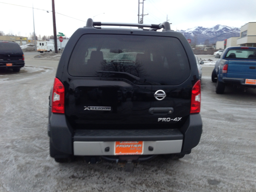
[[[70,131],[64,114],[50,114],[48,135],[55,151],[78,156],[114,155],[115,141],[144,141],[143,155],[190,151],[202,134],[200,114],[191,114],[178,129]],[[149,150],[149,147],[152,147]],[[105,150],[109,148],[109,150]],[[58,155],[58,154],[56,154]],[[54,157],[54,156],[53,156]]]

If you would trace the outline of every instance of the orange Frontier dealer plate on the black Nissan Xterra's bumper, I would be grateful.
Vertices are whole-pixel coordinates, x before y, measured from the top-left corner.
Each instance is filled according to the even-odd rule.
[[[114,155],[141,155],[143,144],[143,141],[116,141]]]

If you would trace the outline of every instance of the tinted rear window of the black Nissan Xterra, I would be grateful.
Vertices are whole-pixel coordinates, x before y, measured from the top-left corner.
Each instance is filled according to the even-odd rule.
[[[143,85],[178,85],[190,76],[190,65],[177,38],[86,34],[72,52],[68,73],[126,78]]]

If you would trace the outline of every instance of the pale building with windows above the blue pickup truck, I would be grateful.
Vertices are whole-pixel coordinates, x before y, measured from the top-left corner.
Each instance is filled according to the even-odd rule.
[[[241,27],[237,44],[246,47],[256,47],[256,22],[249,22]]]

